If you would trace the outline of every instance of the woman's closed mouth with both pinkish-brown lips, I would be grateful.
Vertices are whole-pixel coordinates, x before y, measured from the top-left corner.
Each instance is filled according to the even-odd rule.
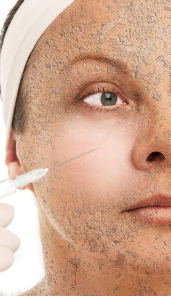
[[[125,215],[141,222],[171,224],[171,195],[156,193],[125,209],[123,212]]]

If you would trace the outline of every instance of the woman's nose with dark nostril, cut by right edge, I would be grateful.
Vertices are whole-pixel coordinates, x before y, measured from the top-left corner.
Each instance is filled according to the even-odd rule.
[[[132,149],[132,162],[139,170],[162,168],[171,174],[171,115],[168,110],[165,114],[159,113],[158,120],[152,120],[151,116],[143,120]]]

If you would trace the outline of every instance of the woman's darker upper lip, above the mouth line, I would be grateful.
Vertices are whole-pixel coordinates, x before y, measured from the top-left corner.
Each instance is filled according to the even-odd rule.
[[[140,200],[138,203],[129,207],[125,211],[135,210],[146,207],[171,207],[171,195],[156,193],[150,197]]]

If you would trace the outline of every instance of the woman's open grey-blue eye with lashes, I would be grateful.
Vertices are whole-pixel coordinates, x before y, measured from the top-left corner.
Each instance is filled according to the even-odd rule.
[[[79,96],[77,100],[82,101],[81,107],[101,111],[114,111],[121,109],[123,105],[128,105],[126,99],[122,98],[124,93],[110,87],[98,86],[96,89],[90,89],[85,94]],[[88,104],[87,104],[88,103]]]

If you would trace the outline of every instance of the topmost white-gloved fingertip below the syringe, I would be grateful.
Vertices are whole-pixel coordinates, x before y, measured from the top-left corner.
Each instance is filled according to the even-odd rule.
[[[0,203],[0,227],[7,227],[14,218],[15,209],[6,203]]]

